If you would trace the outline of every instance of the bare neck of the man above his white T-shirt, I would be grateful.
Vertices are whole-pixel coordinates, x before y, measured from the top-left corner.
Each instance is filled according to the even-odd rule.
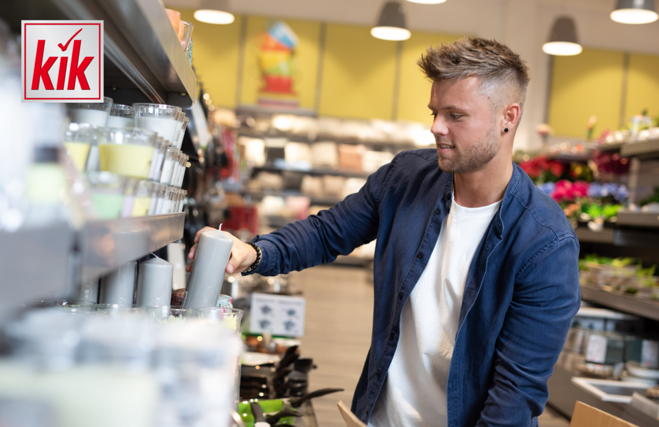
[[[454,174],[453,197],[463,207],[492,205],[503,198],[513,163],[510,156],[494,157],[485,167],[467,174]]]

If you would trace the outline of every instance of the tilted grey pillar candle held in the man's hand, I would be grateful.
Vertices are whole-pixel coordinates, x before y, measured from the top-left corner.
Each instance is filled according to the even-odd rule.
[[[183,307],[215,307],[220,298],[224,269],[231,256],[231,239],[224,231],[205,231],[199,238],[199,246],[192,263],[192,273],[187,280]]]

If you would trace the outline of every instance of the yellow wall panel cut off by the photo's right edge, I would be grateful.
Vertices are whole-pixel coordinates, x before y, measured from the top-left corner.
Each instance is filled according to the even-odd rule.
[[[625,124],[647,108],[651,117],[659,115],[659,57],[629,55]]]

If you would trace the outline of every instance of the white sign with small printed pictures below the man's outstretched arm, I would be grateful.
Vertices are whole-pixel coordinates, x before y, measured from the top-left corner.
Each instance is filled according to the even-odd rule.
[[[252,294],[250,332],[303,336],[306,301],[288,295]]]

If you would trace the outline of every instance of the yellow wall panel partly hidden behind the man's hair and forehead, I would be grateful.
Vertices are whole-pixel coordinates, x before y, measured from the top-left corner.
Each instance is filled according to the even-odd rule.
[[[428,110],[432,84],[419,69],[417,60],[430,45],[451,43],[458,38],[461,36],[413,31],[411,38],[402,42],[397,119],[432,124]]]

